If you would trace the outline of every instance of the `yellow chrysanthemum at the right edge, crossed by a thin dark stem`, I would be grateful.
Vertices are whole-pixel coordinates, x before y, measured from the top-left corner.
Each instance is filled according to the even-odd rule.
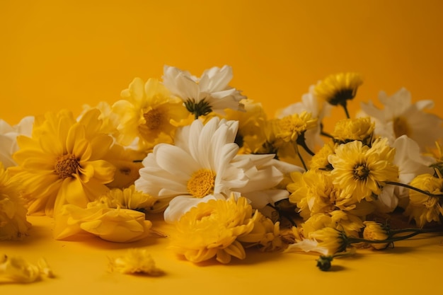
[[[443,178],[430,174],[421,174],[414,178],[410,185],[434,195],[443,195]],[[409,191],[409,204],[405,214],[414,219],[417,226],[423,227],[431,221],[439,221],[443,214],[441,198],[431,197],[415,190]]]

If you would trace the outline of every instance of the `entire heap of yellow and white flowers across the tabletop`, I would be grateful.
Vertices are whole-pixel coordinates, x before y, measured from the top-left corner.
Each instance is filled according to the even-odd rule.
[[[443,120],[425,111],[432,101],[380,93],[383,108],[362,103],[351,117],[363,80],[340,73],[267,118],[231,78],[230,66],[200,77],[165,66],[161,80],[135,78],[120,100],[77,116],[0,122],[0,238],[25,235],[28,212],[52,216],[57,239],[131,242],[161,212],[176,226],[170,248],[192,262],[301,249],[321,253],[326,270],[352,245],[383,249],[441,223]],[[334,107],[345,117],[326,129]],[[381,226],[398,212],[413,229]],[[112,265],[157,272],[145,253]]]

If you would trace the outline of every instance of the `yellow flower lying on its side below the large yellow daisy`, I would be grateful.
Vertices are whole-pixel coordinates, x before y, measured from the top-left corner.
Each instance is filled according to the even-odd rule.
[[[111,208],[108,202],[90,202],[87,208],[66,204],[56,213],[54,238],[57,240],[86,232],[106,241],[128,243],[148,236],[152,226],[144,213]]]

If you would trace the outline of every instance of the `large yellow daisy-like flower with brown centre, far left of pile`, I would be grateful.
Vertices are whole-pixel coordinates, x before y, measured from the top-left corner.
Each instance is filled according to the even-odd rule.
[[[52,215],[54,206],[86,204],[108,191],[115,167],[104,161],[113,139],[100,133],[100,112],[77,122],[71,112],[48,112],[35,120],[32,137],[18,137],[11,168],[31,199],[28,211]]]

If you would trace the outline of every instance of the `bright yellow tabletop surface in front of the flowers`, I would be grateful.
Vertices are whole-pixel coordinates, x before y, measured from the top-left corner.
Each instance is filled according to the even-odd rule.
[[[154,229],[171,232],[154,217]],[[1,251],[29,262],[45,257],[54,279],[28,285],[0,285],[1,294],[439,294],[443,237],[426,235],[396,243],[386,251],[358,250],[351,258],[333,260],[330,272],[317,269],[316,255],[260,253],[229,265],[193,265],[180,260],[167,238],[137,243],[110,243],[100,238],[54,241],[52,219],[30,216],[33,229],[22,242],[2,242]],[[165,274],[132,276],[108,272],[108,257],[127,248],[144,247]],[[31,293],[32,292],[32,293]]]

